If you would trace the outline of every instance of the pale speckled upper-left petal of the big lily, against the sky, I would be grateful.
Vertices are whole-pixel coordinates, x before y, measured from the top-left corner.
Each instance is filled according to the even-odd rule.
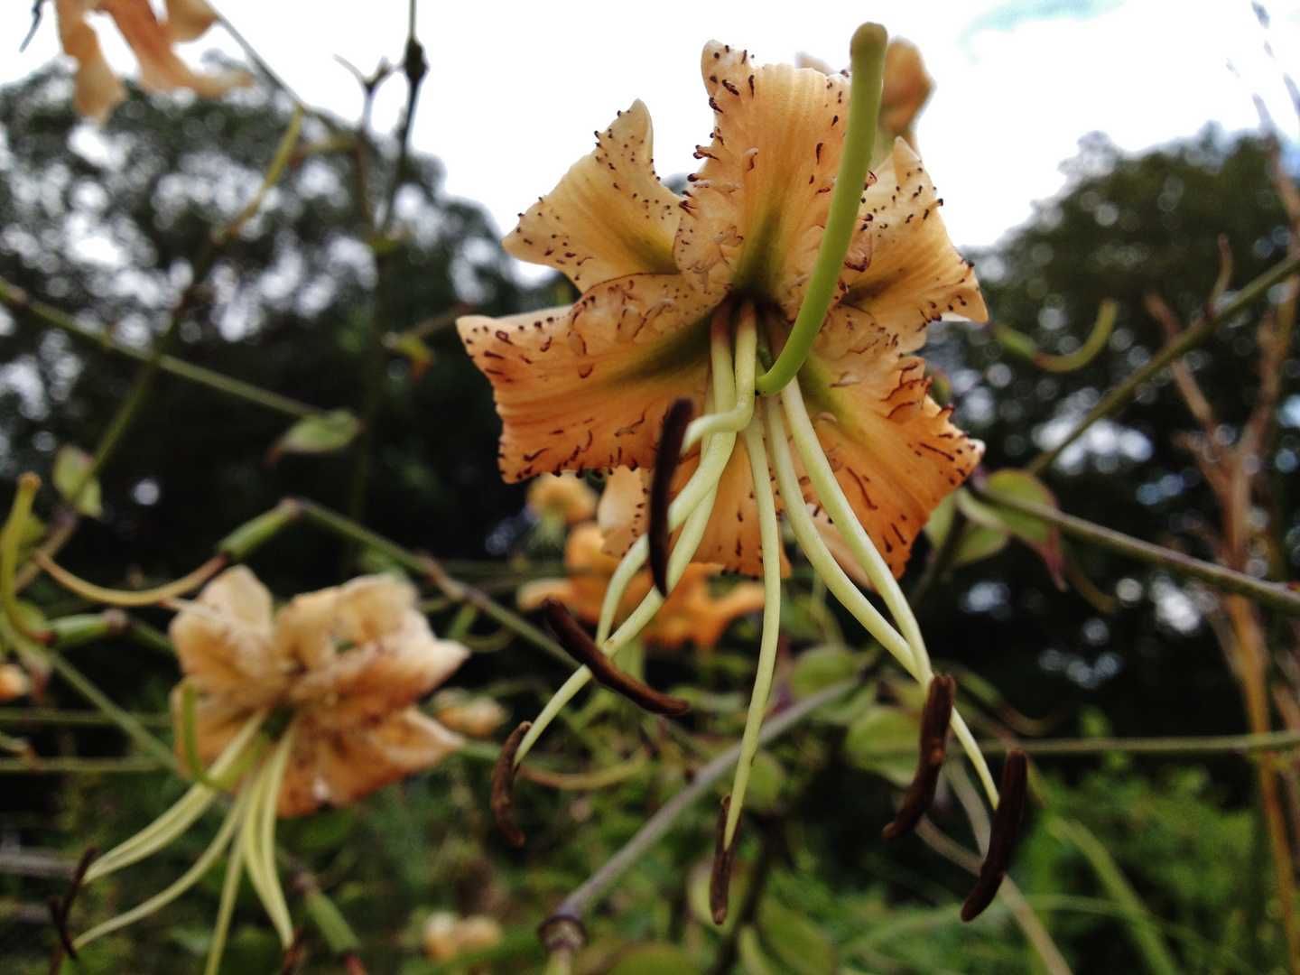
[[[580,289],[625,274],[672,273],[681,198],[654,172],[644,103],[597,133],[595,151],[521,213],[502,242],[520,260],[564,272]]]

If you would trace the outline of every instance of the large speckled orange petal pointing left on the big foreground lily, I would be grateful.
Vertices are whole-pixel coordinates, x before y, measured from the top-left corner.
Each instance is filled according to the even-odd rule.
[[[703,406],[711,309],[677,274],[632,274],[572,308],[460,318],[502,419],[502,476],[653,465],[672,402]]]

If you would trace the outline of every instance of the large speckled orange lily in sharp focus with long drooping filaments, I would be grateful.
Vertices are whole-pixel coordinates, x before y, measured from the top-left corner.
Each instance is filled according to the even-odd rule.
[[[763,578],[758,677],[720,849],[733,848],[776,659],[777,514],[828,589],[928,685],[896,577],[930,512],[983,452],[927,395],[914,355],[940,316],[984,320],[975,274],[905,140],[867,173],[884,55],[884,31],[859,29],[850,88],[846,75],[760,66],[707,44],[715,127],[685,195],[659,182],[650,117],[634,103],[504,240],[516,257],[567,274],[578,300],[458,322],[493,384],[506,480],[615,468],[601,511],[607,551],[621,556],[597,625],[604,654],[663,604],[651,589],[614,629],[627,586],[647,555],[670,549],[670,533],[666,566],[651,556],[667,593],[692,560]],[[838,567],[819,520],[897,629]],[[514,742],[516,764],[589,677],[580,670]],[[994,796],[970,731],[952,720]]]

